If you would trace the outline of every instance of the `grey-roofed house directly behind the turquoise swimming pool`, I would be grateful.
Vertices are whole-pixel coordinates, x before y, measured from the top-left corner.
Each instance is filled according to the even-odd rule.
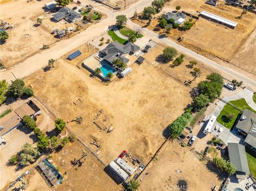
[[[115,41],[114,43],[110,43],[106,48],[104,48],[100,53],[103,54],[103,59],[108,61],[109,63],[113,63],[113,60],[119,59],[124,63],[129,62],[126,55],[134,54],[140,49],[139,46],[129,42],[126,45],[122,45]]]

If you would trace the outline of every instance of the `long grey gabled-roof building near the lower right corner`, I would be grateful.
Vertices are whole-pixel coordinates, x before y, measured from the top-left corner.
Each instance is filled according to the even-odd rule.
[[[238,143],[228,143],[229,161],[236,168],[236,178],[243,179],[246,175],[250,175],[244,145]]]

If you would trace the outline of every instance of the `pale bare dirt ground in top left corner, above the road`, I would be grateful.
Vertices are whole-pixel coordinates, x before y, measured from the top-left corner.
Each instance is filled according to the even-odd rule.
[[[1,45],[1,60],[7,69],[18,64],[27,56],[39,52],[43,44],[54,43],[53,36],[42,27],[35,27],[31,18],[42,14],[42,7],[46,1],[10,1],[1,4],[0,19],[14,24],[14,28],[8,30],[9,39]],[[36,64],[36,63],[35,63]]]

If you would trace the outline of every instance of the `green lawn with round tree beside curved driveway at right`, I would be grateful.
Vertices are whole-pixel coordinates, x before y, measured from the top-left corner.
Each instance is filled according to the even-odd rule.
[[[253,109],[251,109],[251,107],[246,103],[244,98],[241,99],[237,99],[235,101],[230,101],[229,103],[237,106],[239,109],[241,110],[251,110],[253,112],[256,113],[256,111],[254,111]],[[225,115],[227,113],[233,113],[234,114],[234,118],[230,121],[230,122],[225,122],[223,120],[225,120]],[[217,122],[219,122],[220,124],[222,124],[223,126],[227,127],[228,129],[231,129],[234,122],[236,121],[236,118],[238,116],[238,114],[240,113],[239,110],[235,109],[233,106],[226,104],[222,111],[220,112],[219,116],[217,117]]]

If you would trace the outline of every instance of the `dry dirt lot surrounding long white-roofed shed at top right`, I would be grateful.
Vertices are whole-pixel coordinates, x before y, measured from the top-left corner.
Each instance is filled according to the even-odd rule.
[[[186,11],[191,14],[198,15],[196,11],[204,10],[238,23],[238,26],[235,29],[230,29],[207,19],[199,18],[199,20],[195,22],[194,26],[188,31],[179,31],[177,29],[171,30],[169,38],[176,40],[179,36],[182,36],[183,40],[180,43],[181,45],[186,46],[206,57],[212,58],[213,56],[216,56],[222,60],[230,62],[256,27],[256,14],[247,12],[243,15],[242,19],[237,19],[237,16],[241,15],[242,9],[227,6],[221,1],[216,7],[212,7],[211,5],[205,4],[205,1],[201,0],[190,2],[189,4],[181,0],[175,0],[166,3],[164,9],[155,15],[155,18],[147,28],[157,32],[158,34],[162,34],[163,30],[157,27],[158,18],[164,12],[175,10],[175,6],[177,5],[181,6],[180,11]],[[189,18],[187,16],[187,20],[188,19]],[[133,22],[140,24],[140,26],[145,26],[147,21],[133,20]],[[250,57],[245,55],[246,49],[248,49],[248,53],[250,51],[250,49],[246,47],[250,44],[252,44],[250,47],[254,47],[253,45],[255,43],[253,41],[253,36],[254,35],[252,34],[251,40],[248,41],[248,44],[244,45],[244,48],[241,48],[241,53],[238,53],[239,55],[243,53],[245,59],[246,57]],[[237,57],[239,57],[238,54]],[[244,57],[240,58],[243,60]],[[238,67],[240,67],[239,62],[241,63],[241,60],[234,60],[234,64]],[[233,63],[233,61],[231,61],[231,63]],[[255,68],[253,67],[254,63],[250,63],[248,61],[244,61],[244,63],[245,64],[241,66],[241,68],[253,73],[253,69]]]

